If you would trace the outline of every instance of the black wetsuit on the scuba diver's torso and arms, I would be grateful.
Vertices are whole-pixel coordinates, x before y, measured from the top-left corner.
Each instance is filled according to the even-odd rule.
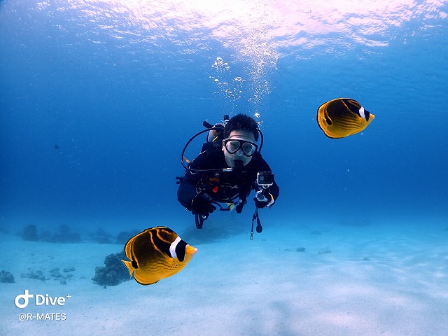
[[[195,160],[190,162],[191,169],[224,169],[228,168],[225,156],[220,147],[209,146],[207,151],[197,155]],[[251,193],[258,172],[270,171],[269,165],[259,153],[255,153],[251,161],[244,167],[234,169],[234,172],[190,172],[186,170],[179,190],[177,199],[187,209],[198,193],[207,193],[215,202],[232,203],[239,200],[246,201]],[[267,188],[264,195],[268,193],[274,197],[274,201],[279,197],[279,186],[274,183]],[[268,197],[269,198],[269,197]]]

